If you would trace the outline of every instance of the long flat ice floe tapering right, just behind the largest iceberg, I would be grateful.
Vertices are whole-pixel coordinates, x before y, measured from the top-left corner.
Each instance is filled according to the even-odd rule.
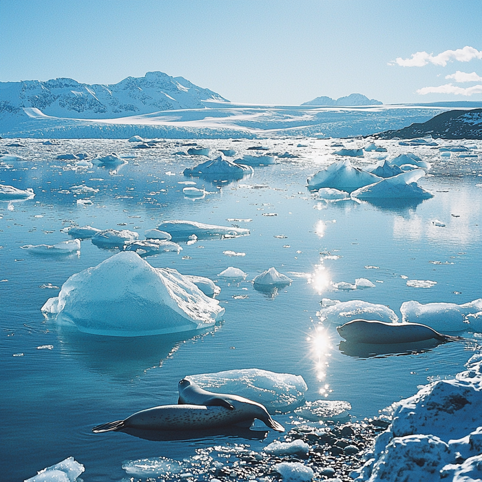
[[[216,226],[196,221],[173,220],[159,224],[160,231],[166,231],[174,241],[188,241],[189,236],[195,234],[198,239],[235,238],[249,235],[249,229]]]

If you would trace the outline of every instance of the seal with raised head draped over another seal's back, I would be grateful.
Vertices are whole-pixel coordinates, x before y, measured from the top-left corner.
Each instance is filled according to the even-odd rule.
[[[269,428],[277,432],[284,432],[284,427],[271,418],[266,407],[258,404],[256,401],[240,397],[239,395],[208,392],[193,381],[185,378],[178,383],[178,390],[178,404],[221,406],[229,410],[233,416],[243,414],[246,416],[245,420],[251,419],[253,421],[253,419],[259,419]]]

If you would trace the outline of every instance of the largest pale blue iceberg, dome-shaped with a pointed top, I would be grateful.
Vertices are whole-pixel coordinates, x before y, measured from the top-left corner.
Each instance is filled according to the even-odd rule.
[[[153,268],[132,251],[72,275],[42,311],[84,333],[122,337],[201,329],[224,314],[187,277]]]

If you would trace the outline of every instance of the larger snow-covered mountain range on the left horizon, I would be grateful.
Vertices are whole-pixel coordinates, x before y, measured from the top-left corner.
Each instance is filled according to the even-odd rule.
[[[33,107],[48,116],[103,119],[174,109],[198,109],[202,101],[228,102],[182,77],[147,72],[112,85],[88,85],[72,78],[0,83],[0,121]]]

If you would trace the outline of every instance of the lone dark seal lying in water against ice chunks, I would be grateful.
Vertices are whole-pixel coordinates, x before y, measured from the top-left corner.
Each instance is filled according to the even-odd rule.
[[[443,335],[419,323],[386,323],[367,319],[353,319],[337,326],[339,335],[351,343],[392,344],[421,342],[436,339],[439,342],[453,342],[460,337]]]

